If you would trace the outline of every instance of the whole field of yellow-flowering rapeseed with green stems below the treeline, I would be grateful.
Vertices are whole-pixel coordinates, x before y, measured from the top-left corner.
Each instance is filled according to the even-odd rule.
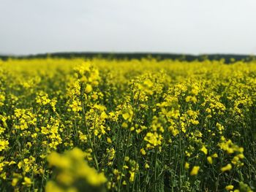
[[[0,61],[0,191],[255,191],[256,61]]]

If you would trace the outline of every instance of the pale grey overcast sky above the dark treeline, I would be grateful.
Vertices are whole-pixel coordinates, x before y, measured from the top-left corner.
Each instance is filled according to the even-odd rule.
[[[256,55],[255,0],[0,0],[0,54]]]

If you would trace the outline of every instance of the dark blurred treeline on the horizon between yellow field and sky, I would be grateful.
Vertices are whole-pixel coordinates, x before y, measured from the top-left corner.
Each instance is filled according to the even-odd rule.
[[[234,61],[252,61],[255,60],[255,55],[232,55],[232,54],[210,54],[210,55],[184,55],[171,53],[45,53],[37,55],[0,55],[1,60],[8,58],[106,58],[106,59],[141,59],[155,58],[157,60],[173,59],[178,61],[203,61],[203,60],[221,60],[225,59],[225,63],[233,63]]]

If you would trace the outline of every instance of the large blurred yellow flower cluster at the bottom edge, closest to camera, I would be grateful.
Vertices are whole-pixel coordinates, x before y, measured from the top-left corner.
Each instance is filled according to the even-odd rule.
[[[85,153],[77,147],[64,154],[50,153],[49,165],[56,169],[53,169],[53,178],[48,181],[45,191],[105,191],[106,177],[91,168],[84,158]]]

